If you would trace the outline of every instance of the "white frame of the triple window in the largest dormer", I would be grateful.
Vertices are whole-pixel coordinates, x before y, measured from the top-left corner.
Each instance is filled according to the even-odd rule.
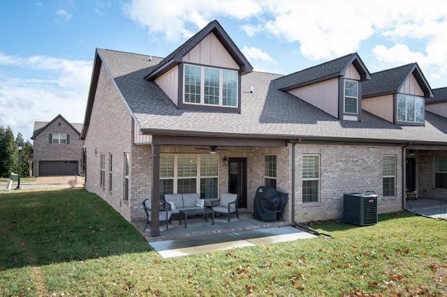
[[[185,97],[185,88],[184,88],[184,76],[186,75],[186,71],[185,68],[186,66],[193,66],[193,67],[198,67],[200,68],[200,103],[196,103],[196,102],[186,102],[184,100]],[[219,104],[206,104],[205,103],[205,68],[209,68],[209,69],[215,69],[215,70],[219,70]],[[223,71],[228,71],[228,72],[232,72],[236,74],[236,105],[223,105]],[[210,66],[200,66],[200,65],[191,65],[191,64],[184,64],[183,66],[183,104],[188,104],[188,105],[205,105],[205,106],[214,106],[214,107],[229,107],[229,108],[235,108],[237,109],[239,107],[239,79],[237,79],[237,71],[236,70],[231,70],[231,69],[223,69],[223,68],[215,68],[215,67],[210,67]]]

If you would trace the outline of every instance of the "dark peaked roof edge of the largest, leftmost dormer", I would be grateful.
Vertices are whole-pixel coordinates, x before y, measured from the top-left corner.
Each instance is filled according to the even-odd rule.
[[[221,24],[217,22],[217,20],[213,20],[208,23],[202,30],[198,31],[194,36],[186,40],[185,43],[177,47],[177,49],[166,56],[156,68],[151,70],[149,74],[146,75],[145,79],[155,79],[168,72],[168,70],[174,68],[179,63],[182,63],[183,57],[189,51],[193,49],[200,41],[203,40],[208,34],[214,33],[219,42],[226,49],[228,54],[232,56],[237,65],[240,67],[240,73],[242,75],[251,73],[253,71],[253,66],[249,63],[247,58],[245,58],[244,54],[239,50],[239,48],[235,45],[233,40],[228,36],[228,33],[223,29]]]

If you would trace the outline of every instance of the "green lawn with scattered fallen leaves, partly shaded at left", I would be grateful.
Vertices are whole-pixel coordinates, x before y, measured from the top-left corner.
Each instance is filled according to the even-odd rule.
[[[447,222],[395,213],[332,238],[163,259],[85,190],[0,192],[1,296],[446,296]]]

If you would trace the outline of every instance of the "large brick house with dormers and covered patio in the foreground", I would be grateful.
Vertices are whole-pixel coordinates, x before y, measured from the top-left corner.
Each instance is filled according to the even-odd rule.
[[[425,162],[447,155],[447,121],[420,118],[432,91],[412,65],[376,79],[353,53],[286,76],[254,72],[217,21],[165,59],[97,49],[85,186],[129,221],[145,217],[147,197],[173,192],[235,192],[253,211],[261,185],[288,193],[290,222],[341,218],[349,192],[373,190],[380,213],[400,211],[410,150],[423,156],[414,188],[427,195],[436,173]]]

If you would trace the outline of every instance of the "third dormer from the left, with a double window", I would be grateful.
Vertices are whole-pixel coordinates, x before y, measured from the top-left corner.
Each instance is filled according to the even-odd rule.
[[[417,63],[372,74],[363,84],[362,106],[367,112],[399,125],[424,125],[425,99],[432,89]]]

